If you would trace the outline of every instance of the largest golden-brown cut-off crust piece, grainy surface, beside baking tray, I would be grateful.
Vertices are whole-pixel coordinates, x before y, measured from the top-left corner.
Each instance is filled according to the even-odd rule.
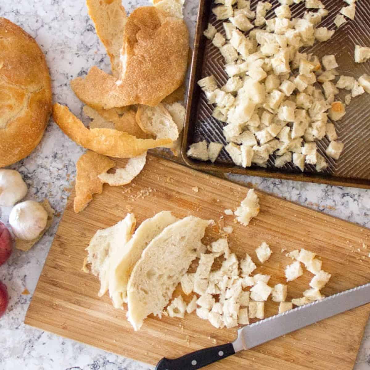
[[[80,100],[96,109],[132,104],[154,107],[184,82],[188,49],[184,20],[154,7],[140,7],[125,26],[122,51],[127,62],[120,80],[92,67],[71,86]]]

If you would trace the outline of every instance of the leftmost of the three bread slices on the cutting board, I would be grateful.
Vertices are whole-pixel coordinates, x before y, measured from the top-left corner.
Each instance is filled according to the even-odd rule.
[[[86,248],[87,263],[91,263],[91,272],[100,279],[99,297],[108,290],[111,257],[117,250],[124,248],[134,232],[135,225],[135,215],[127,213],[122,221],[110,228],[98,230]]]

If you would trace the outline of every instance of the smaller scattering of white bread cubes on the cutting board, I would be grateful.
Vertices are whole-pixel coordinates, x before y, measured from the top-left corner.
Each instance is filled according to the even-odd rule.
[[[250,190],[235,215],[239,215],[238,222],[248,225],[258,212],[258,197]],[[262,242],[255,253],[258,260],[265,263],[272,255],[272,250],[266,242]],[[231,328],[239,324],[247,325],[249,319],[264,319],[265,302],[270,296],[273,302],[279,302],[279,313],[293,309],[293,305],[303,306],[323,299],[320,289],[331,275],[322,270],[322,261],[316,258],[315,253],[305,249],[293,250],[286,256],[295,260],[285,269],[287,282],[303,275],[301,263],[313,274],[310,287],[303,292],[303,297],[290,302],[286,302],[287,285],[276,284],[271,287],[268,285],[269,275],[259,273],[251,276],[257,266],[250,255],[246,253],[239,261],[235,253],[230,251],[228,239],[218,239],[208,246],[208,252],[201,253],[195,273],[186,273],[181,278],[182,291],[186,295],[193,292],[196,295],[188,304],[182,296],[176,297],[167,306],[166,313],[171,317],[184,317],[185,313],[195,311],[198,317],[209,320],[216,328]],[[215,260],[220,257],[221,268],[212,269]]]

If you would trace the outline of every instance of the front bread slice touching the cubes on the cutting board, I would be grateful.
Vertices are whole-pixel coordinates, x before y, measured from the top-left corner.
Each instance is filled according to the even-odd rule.
[[[127,316],[135,330],[151,313],[162,317],[181,277],[203,248],[201,239],[211,222],[188,216],[167,226],[144,249],[127,286]]]

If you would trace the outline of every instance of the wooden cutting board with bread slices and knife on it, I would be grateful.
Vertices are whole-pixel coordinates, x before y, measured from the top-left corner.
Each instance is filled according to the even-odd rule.
[[[118,161],[118,165],[123,164]],[[132,184],[104,185],[103,194],[94,196],[94,201],[79,214],[73,212],[72,194],[28,309],[26,324],[152,365],[164,356],[178,357],[235,339],[236,329],[215,329],[195,313],[184,319],[149,317],[142,329],[134,332],[125,310],[115,310],[108,296],[97,296],[98,279],[81,271],[84,249],[97,229],[112,226],[128,211],[135,213],[137,225],[162,210],[170,210],[178,217],[214,219],[218,226],[209,231],[210,238],[219,237],[219,226],[233,226],[231,249],[239,257],[250,253],[258,265],[256,272],[272,276],[270,285],[284,282],[283,270],[292,262],[285,253],[297,248],[316,252],[323,260],[323,269],[332,274],[323,289],[325,295],[370,281],[369,229],[262,192],[258,192],[261,211],[245,227],[234,223],[233,216],[226,216],[223,211],[235,210],[247,191],[241,185],[150,156]],[[261,265],[253,251],[264,240],[273,254]],[[305,272],[290,282],[288,299],[300,297],[308,289],[311,277]],[[370,305],[359,307],[243,351],[208,369],[350,370],[369,311]],[[269,301],[267,316],[276,312],[277,303]]]

